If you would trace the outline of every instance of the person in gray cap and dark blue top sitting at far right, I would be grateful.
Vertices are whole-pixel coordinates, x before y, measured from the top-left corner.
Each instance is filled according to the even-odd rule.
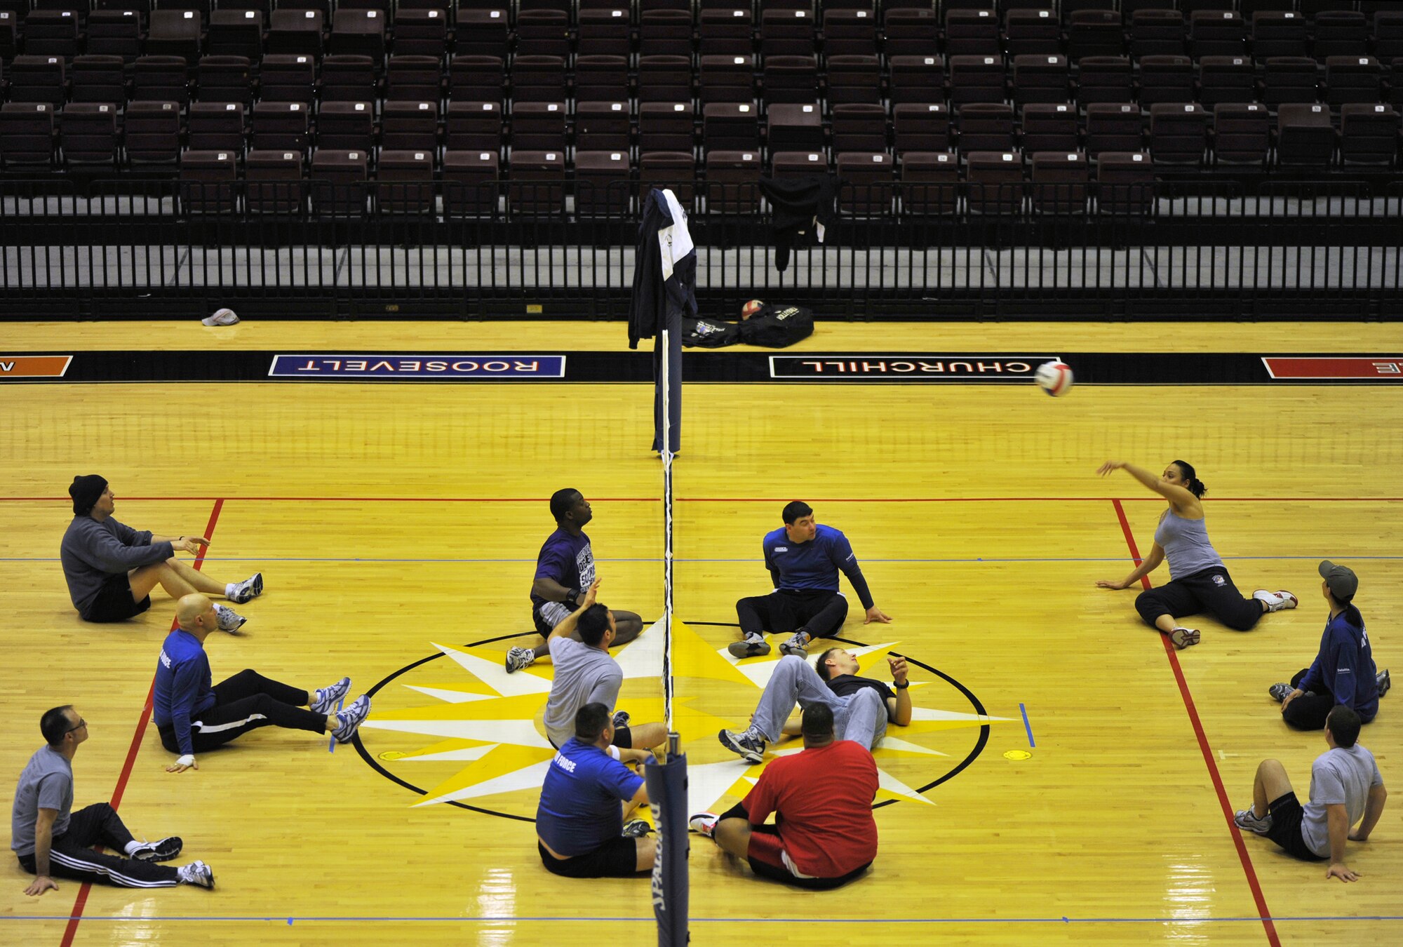
[[[1374,648],[1364,630],[1364,616],[1354,607],[1360,577],[1330,560],[1320,563],[1320,593],[1330,617],[1320,636],[1320,651],[1309,668],[1274,683],[1268,693],[1281,701],[1281,718],[1296,730],[1320,730],[1333,707],[1344,706],[1369,723],[1379,711],[1379,697],[1389,689],[1389,672],[1374,665]]]

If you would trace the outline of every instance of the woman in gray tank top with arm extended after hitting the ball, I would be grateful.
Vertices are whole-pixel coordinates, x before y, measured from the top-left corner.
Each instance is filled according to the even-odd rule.
[[[1174,460],[1156,477],[1143,467],[1122,460],[1107,460],[1097,470],[1103,477],[1124,470],[1169,501],[1155,529],[1155,544],[1139,565],[1120,582],[1099,581],[1103,589],[1128,589],[1169,560],[1169,584],[1150,588],[1135,599],[1135,610],[1148,624],[1169,636],[1176,648],[1198,644],[1198,629],[1179,623],[1179,617],[1208,613],[1235,631],[1247,631],[1267,612],[1296,607],[1291,592],[1257,589],[1243,598],[1228,575],[1228,567],[1208,542],[1204,526],[1202,497],[1208,492],[1194,467]],[[1177,617],[1176,617],[1177,616]]]

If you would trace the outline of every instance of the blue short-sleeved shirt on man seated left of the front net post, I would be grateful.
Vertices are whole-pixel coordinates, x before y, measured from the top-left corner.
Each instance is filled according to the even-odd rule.
[[[623,835],[624,800],[631,800],[643,777],[577,738],[565,741],[546,770],[536,807],[536,835],[567,859],[588,854]]]

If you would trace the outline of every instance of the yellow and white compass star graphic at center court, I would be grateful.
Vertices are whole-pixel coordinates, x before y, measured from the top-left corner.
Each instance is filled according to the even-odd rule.
[[[727,631],[717,630],[717,637]],[[556,752],[540,723],[551,664],[540,661],[506,673],[504,641],[428,641],[425,650],[436,654],[397,671],[372,690],[376,710],[361,725],[362,756],[391,780],[422,794],[412,805],[448,802],[508,818],[535,817],[546,766]],[[927,791],[978,756],[991,724],[1012,720],[988,716],[972,692],[919,655],[894,651],[899,641],[833,641],[854,645],[850,651],[857,655],[861,676],[887,679],[888,654],[902,654],[912,666],[911,724],[888,727],[873,751],[878,805],[933,805]],[[687,807],[694,812],[730,807],[765,769],[765,763],[751,766],[738,759],[716,735],[723,728],[746,725],[779,657],[737,659],[724,645],[703,638],[685,622],[672,623],[673,724],[689,756]],[[822,650],[818,645],[810,647],[815,655]],[[613,652],[624,676],[617,708],[627,710],[636,724],[662,718],[662,651],[658,622]],[[766,763],[801,749],[798,738],[784,739],[769,748]]]

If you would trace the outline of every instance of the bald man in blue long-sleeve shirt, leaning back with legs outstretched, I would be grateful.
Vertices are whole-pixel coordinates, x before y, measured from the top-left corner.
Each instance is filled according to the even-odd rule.
[[[370,699],[365,694],[335,711],[337,701],[351,690],[351,678],[307,693],[255,671],[241,671],[210,686],[205,638],[219,624],[213,603],[198,592],[187,595],[175,606],[175,623],[178,627],[161,645],[152,696],[161,745],[180,753],[166,767],[170,773],[199,769],[196,752],[222,746],[258,727],[327,732],[344,744],[370,713]]]

